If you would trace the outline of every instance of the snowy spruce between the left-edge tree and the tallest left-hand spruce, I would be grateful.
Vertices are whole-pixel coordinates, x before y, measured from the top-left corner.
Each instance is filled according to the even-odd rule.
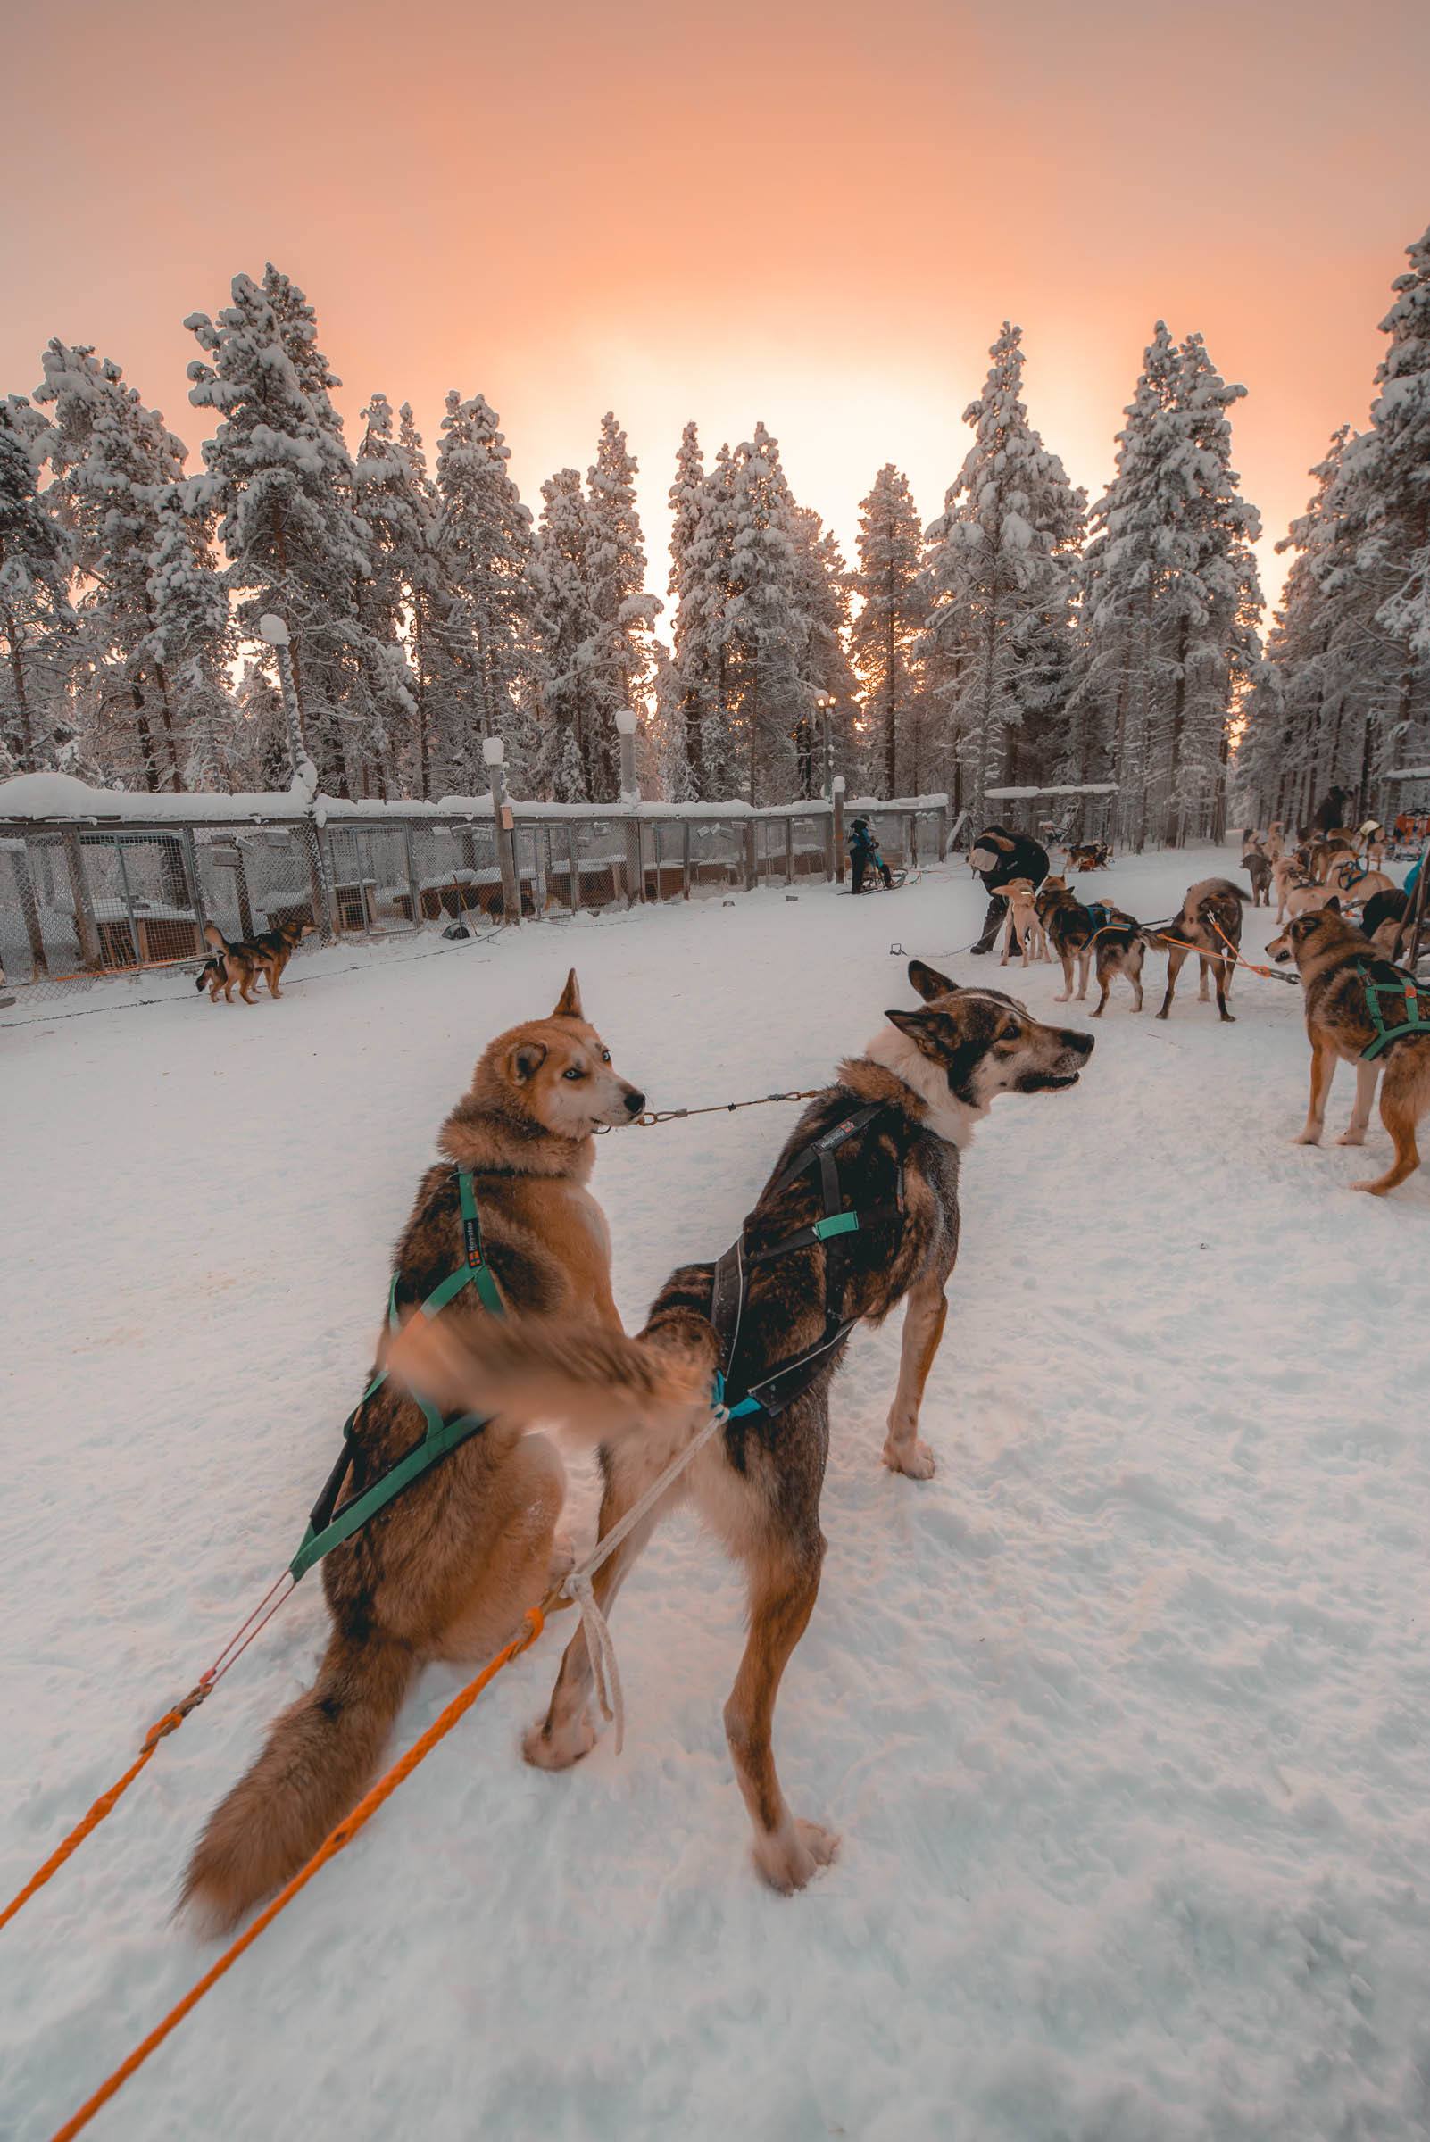
[[[36,403],[54,471],[49,501],[75,542],[88,675],[86,728],[122,778],[182,788],[182,724],[152,591],[161,516],[182,499],[184,443],[146,409],[118,364],[51,341]],[[223,593],[223,591],[218,591]]]

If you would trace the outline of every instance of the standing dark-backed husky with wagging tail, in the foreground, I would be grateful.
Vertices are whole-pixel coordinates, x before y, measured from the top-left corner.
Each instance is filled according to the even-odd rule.
[[[918,1407],[959,1247],[959,1148],[995,1095],[1072,1086],[1092,1054],[1092,1035],[1043,1026],[1010,996],[961,990],[921,960],[910,981],[925,1009],[886,1013],[863,1056],[839,1065],[786,1144],[741,1242],[717,1266],[672,1272],[640,1337],[593,1324],[578,1332],[552,1317],[462,1328],[417,1317],[394,1347],[394,1367],[441,1403],[490,1409],[514,1427],[565,1418],[606,1435],[602,1536],[709,1420],[721,1371],[732,1418],[661,1508],[687,1497],[745,1566],[749,1641],[726,1737],[756,1864],[784,1891],[801,1889],[835,1853],[826,1829],[790,1814],[771,1746],[779,1677],[820,1589],[831,1377],[852,1326],[878,1324],[908,1300],[884,1463],[927,1480],[933,1452],[918,1439]],[[818,1223],[833,1215],[858,1215],[858,1225],[824,1240]],[[655,1521],[649,1514],[602,1566],[604,1606]],[[527,1737],[531,1763],[565,1769],[587,1754],[591,1686],[578,1632],[550,1709]]]

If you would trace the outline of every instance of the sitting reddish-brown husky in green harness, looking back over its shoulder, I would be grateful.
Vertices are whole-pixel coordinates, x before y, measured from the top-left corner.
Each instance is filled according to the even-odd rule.
[[[456,1182],[465,1167],[480,1257],[503,1304],[559,1317],[572,1332],[619,1334],[610,1236],[587,1189],[591,1133],[642,1107],[644,1095],[617,1077],[587,1024],[572,972],[548,1020],[490,1043],[443,1122],[443,1161],[422,1178],[396,1247],[398,1311],[469,1262]],[[499,1322],[471,1287],[437,1317],[458,1330],[482,1319]],[[417,1405],[383,1384],[355,1416],[343,1502],[422,1435]],[[417,1669],[430,1658],[490,1658],[544,1596],[563,1491],[561,1459],[544,1437],[488,1422],[332,1549],[323,1562],[332,1636],[317,1681],[280,1714],[210,1816],[182,1902],[193,1900],[212,1928],[231,1926],[298,1872],[368,1782]]]

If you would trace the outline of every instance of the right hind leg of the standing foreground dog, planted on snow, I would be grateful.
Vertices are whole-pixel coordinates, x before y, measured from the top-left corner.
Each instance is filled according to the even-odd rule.
[[[820,1596],[824,1540],[818,1517],[805,1529],[760,1544],[749,1557],[749,1639],[726,1703],[726,1739],[749,1821],[756,1866],[771,1889],[788,1896],[835,1857],[837,1838],[818,1823],[801,1823],[786,1804],[775,1771],[775,1699],[794,1645],[805,1634]]]

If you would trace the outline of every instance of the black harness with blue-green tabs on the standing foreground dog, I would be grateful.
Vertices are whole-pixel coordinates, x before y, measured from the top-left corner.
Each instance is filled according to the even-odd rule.
[[[846,1212],[835,1148],[846,1144],[846,1140],[850,1140],[856,1131],[863,1131],[876,1116],[882,1116],[886,1107],[886,1101],[871,1101],[867,1107],[856,1107],[852,1116],[841,1116],[831,1131],[824,1131],[809,1146],[805,1146],[803,1152],[796,1152],[775,1182],[771,1197],[777,1197],[779,1191],[807,1170],[818,1167],[820,1193],[824,1197],[822,1219],[811,1221],[807,1227],[796,1227],[794,1234],[788,1234],[781,1242],[771,1242],[769,1249],[756,1251],[745,1249],[745,1230],[741,1230],[739,1238],[715,1266],[711,1324],[719,1337],[724,1360],[715,1371],[713,1403],[728,1407],[730,1420],[745,1420],[751,1414],[764,1414],[766,1418],[781,1414],[786,1405],[809,1390],[816,1375],[824,1367],[824,1358],[833,1354],[833,1349],[848,1339],[858,1324],[858,1317],[839,1315],[843,1294],[839,1272],[841,1257],[837,1247],[839,1236],[863,1234],[867,1227],[903,1219],[903,1165],[899,1165],[895,1204],[869,1206],[867,1212]],[[769,1264],[771,1257],[784,1257],[794,1249],[811,1249],[816,1242],[824,1245],[824,1332],[811,1347],[796,1354],[794,1360],[788,1360],[769,1375],[749,1382],[741,1367],[741,1319],[745,1313],[747,1270],[751,1264]]]

